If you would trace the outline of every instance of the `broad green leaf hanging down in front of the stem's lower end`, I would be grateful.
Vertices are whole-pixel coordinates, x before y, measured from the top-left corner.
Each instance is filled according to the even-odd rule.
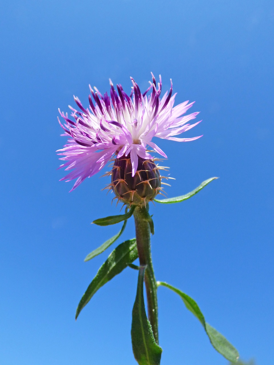
[[[146,317],[144,304],[144,274],[146,266],[140,266],[135,303],[132,310],[132,349],[139,365],[159,365],[162,349],[155,342],[151,324]]]

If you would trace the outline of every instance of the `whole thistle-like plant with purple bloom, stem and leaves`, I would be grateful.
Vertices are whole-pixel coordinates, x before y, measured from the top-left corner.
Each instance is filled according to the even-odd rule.
[[[152,257],[151,235],[154,234],[152,216],[149,214],[149,204],[172,204],[182,202],[198,193],[217,177],[202,182],[196,189],[182,196],[158,199],[164,194],[163,182],[170,179],[164,176],[167,167],[159,165],[161,158],[167,155],[152,142],[153,137],[170,139],[177,142],[194,141],[202,136],[192,138],[175,137],[195,127],[190,124],[198,115],[194,112],[184,115],[194,104],[184,101],[174,106],[175,95],[172,95],[172,82],[169,92],[161,95],[161,76],[159,82],[152,74],[152,82],[148,89],[141,93],[137,83],[131,78],[132,91],[128,95],[122,85],[115,90],[110,80],[110,96],[102,95],[96,88],[90,87],[89,107],[84,108],[80,100],[74,97],[79,108],[68,114],[60,112],[63,124],[58,121],[68,138],[65,146],[58,150],[60,160],[69,173],[61,180],[77,179],[71,191],[81,184],[85,178],[98,173],[111,161],[111,170],[107,173],[111,180],[108,189],[113,191],[117,204],[122,203],[125,213],[107,216],[94,220],[99,226],[108,226],[123,222],[121,230],[104,242],[96,250],[87,255],[85,261],[105,251],[123,233],[126,222],[134,217],[136,238],[128,239],[119,244],[99,268],[91,281],[76,310],[76,319],[84,306],[100,287],[126,268],[138,270],[136,300],[132,310],[132,349],[140,365],[160,364],[162,349],[158,335],[158,305],[157,288],[163,286],[178,294],[185,307],[202,324],[213,347],[231,362],[236,362],[237,350],[218,331],[205,322],[205,318],[197,303],[186,293],[164,281],[156,281]],[[93,100],[92,100],[93,99]],[[157,153],[161,158],[155,157]],[[156,198],[157,197],[157,198]],[[122,207],[122,208],[123,208]],[[139,259],[138,265],[133,264]],[[147,301],[147,313],[144,302],[144,284]]]

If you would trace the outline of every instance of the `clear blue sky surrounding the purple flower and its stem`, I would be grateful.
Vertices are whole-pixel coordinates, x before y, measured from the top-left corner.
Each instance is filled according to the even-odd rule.
[[[157,280],[193,297],[241,358],[274,358],[272,1],[3,1],[0,364],[134,365],[130,339],[137,272],[77,304],[111,248],[84,257],[120,229],[90,225],[119,214],[100,173],[69,193],[56,150],[58,107],[109,77],[142,90],[150,72],[172,78],[175,104],[196,101],[203,122],[155,141],[176,180],[168,197],[220,177],[191,199],[151,206]],[[117,243],[134,237],[133,219]],[[115,243],[116,245],[116,243]],[[114,246],[113,246],[114,248]],[[161,365],[227,365],[181,299],[159,288]]]

